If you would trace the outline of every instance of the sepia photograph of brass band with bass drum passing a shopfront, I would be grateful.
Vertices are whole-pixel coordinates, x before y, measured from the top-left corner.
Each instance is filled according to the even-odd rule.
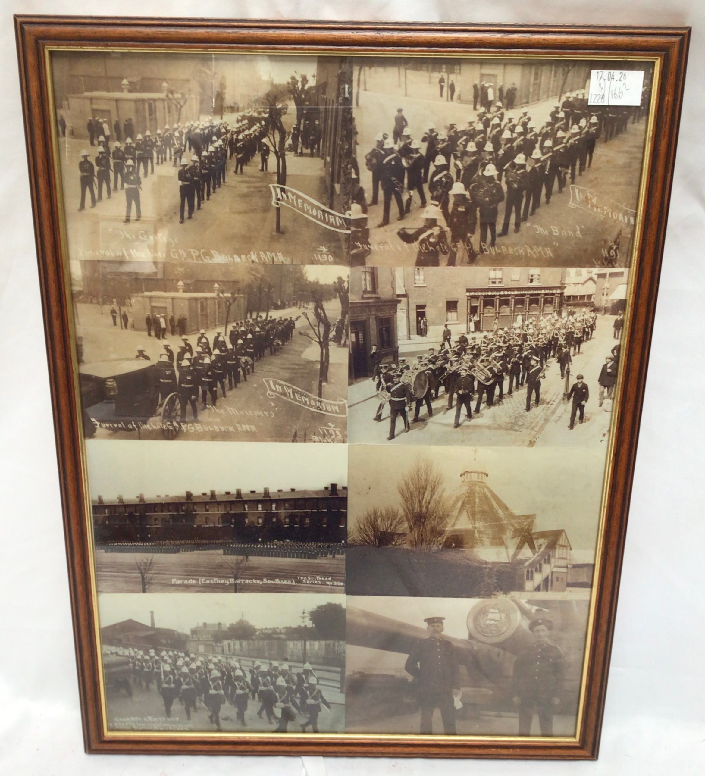
[[[606,448],[628,272],[352,267],[352,443]]]

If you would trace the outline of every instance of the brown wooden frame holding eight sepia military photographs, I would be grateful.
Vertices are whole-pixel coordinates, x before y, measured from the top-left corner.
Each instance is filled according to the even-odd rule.
[[[596,757],[689,29],[16,34],[86,749]]]

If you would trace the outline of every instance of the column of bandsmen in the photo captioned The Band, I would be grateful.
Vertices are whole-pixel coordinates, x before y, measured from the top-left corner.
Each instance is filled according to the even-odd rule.
[[[502,102],[478,110],[477,117],[458,128],[453,122],[444,130],[427,126],[420,140],[398,109],[391,137],[379,133],[365,156],[372,173],[370,206],[378,204],[382,189],[383,215],[377,227],[390,223],[394,199],[398,220],[404,220],[416,202],[423,209],[424,227],[398,231],[398,237],[419,246],[417,266],[438,266],[439,255],[449,254],[454,265],[460,246],[468,262],[478,252],[495,247],[498,237],[521,230],[523,222],[536,213],[541,199],[549,204],[554,189],[561,194],[568,182],[575,183],[592,166],[597,140],[612,140],[627,130],[630,116],[638,120],[644,112],[615,106],[588,106],[584,92],[567,95],[555,103],[550,116],[537,126],[529,109],[517,117],[507,113]],[[422,144],[425,149],[422,150]],[[353,176],[357,176],[353,160]],[[424,185],[428,186],[432,207],[427,207]],[[356,185],[353,201],[362,210],[355,214],[353,229],[364,237],[367,227],[365,192]],[[499,206],[504,205],[502,228],[497,231]],[[471,236],[479,230],[474,248]],[[428,230],[436,233],[436,244],[443,250],[428,249]],[[450,230],[450,239],[446,234]],[[368,233],[369,234],[369,233]],[[358,263],[369,255],[368,243],[356,251]],[[367,250],[365,250],[367,248]],[[607,258],[606,262],[616,259]]]

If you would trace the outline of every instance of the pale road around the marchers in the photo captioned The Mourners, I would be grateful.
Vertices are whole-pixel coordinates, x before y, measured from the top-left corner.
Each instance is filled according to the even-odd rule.
[[[86,310],[86,308],[90,308]],[[332,300],[326,305],[330,320],[340,316],[340,303]],[[285,314],[296,317],[310,310],[281,310],[274,315]],[[191,409],[186,414],[186,425],[177,439],[201,440],[219,439],[255,442],[291,442],[294,434],[298,442],[345,442],[347,429],[344,405],[342,416],[324,414],[283,398],[280,394],[269,397],[265,378],[282,380],[307,393],[318,395],[318,345],[300,332],[311,331],[305,318],[297,320],[297,329],[291,340],[275,355],[267,355],[256,362],[254,374],[247,382],[219,398],[216,407],[199,411],[198,422],[192,422]],[[215,329],[207,332],[213,341]],[[106,307],[99,313],[98,305],[81,305],[78,312],[78,334],[83,337],[84,361],[104,359],[130,359],[137,348],[144,348],[151,359],[158,358],[164,342],[148,337],[144,331],[120,330],[113,327]],[[195,338],[191,338],[195,341]],[[178,338],[166,340],[174,351]],[[331,363],[328,369],[328,383],[323,386],[323,398],[331,401],[346,399],[347,348],[331,347]],[[210,402],[210,399],[209,399]],[[199,402],[200,405],[200,402]],[[143,439],[161,439],[158,417],[146,428],[142,428]],[[134,431],[109,431],[100,428],[99,439],[134,439]]]

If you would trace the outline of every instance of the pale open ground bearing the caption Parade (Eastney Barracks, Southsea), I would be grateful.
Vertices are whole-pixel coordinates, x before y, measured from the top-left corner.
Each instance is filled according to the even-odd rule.
[[[99,593],[140,593],[136,562],[144,553],[96,550]],[[155,554],[150,593],[229,593],[234,558],[220,550]],[[238,593],[344,593],[346,561],[337,558],[263,558],[252,556],[240,571]]]

